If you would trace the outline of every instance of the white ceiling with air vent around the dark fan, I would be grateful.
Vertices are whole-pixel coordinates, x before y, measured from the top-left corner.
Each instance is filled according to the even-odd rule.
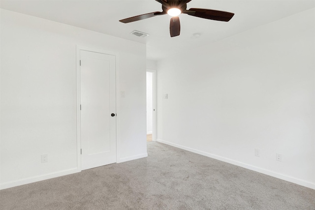
[[[162,11],[155,0],[0,0],[0,7],[147,44],[147,59],[159,60],[315,7],[314,0],[192,0],[189,8],[235,13],[229,22],[180,15],[181,35],[170,37],[170,16],[124,24],[131,16]],[[146,38],[130,34],[149,33]],[[201,33],[200,38],[192,38]]]

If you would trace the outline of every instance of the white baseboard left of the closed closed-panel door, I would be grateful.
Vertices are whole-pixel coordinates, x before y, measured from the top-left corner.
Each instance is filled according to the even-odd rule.
[[[68,170],[64,170],[64,171],[59,171],[59,172],[41,175],[41,176],[35,176],[35,177],[30,177],[30,178],[16,180],[16,181],[8,181],[8,182],[1,183],[0,189],[6,189],[6,188],[15,187],[15,186],[23,185],[23,184],[33,183],[36,181],[42,181],[42,180],[48,180],[48,179],[52,179],[52,178],[56,178],[56,177],[62,177],[62,176],[74,174],[77,172],[80,172],[80,170],[78,170],[77,168],[72,168],[72,169],[68,169]]]

